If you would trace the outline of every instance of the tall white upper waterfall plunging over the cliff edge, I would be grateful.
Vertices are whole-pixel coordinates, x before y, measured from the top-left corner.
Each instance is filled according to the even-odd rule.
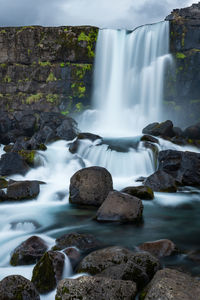
[[[103,136],[133,136],[162,119],[163,82],[169,54],[169,23],[127,30],[100,30],[93,109],[83,128]],[[88,122],[88,119],[91,122]]]

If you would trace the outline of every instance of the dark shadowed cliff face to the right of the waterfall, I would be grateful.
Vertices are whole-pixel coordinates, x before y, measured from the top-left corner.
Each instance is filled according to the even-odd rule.
[[[165,111],[181,126],[194,124],[200,111],[200,3],[175,9],[170,21],[170,50],[174,69],[165,84]]]

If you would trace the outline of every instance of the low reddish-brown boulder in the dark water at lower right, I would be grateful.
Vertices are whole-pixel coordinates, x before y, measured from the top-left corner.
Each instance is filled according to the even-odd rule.
[[[176,252],[176,245],[170,240],[146,242],[138,246],[142,251],[147,251],[156,257],[170,256]]]

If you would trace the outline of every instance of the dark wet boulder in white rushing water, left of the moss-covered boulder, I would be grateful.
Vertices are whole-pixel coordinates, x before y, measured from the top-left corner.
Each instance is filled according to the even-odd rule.
[[[35,264],[47,249],[48,247],[44,240],[40,237],[32,236],[15,248],[10,264],[12,266]]]

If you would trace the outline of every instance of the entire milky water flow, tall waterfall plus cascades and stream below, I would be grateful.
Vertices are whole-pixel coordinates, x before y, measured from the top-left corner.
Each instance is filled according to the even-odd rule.
[[[143,26],[133,32],[100,30],[94,110],[83,113],[79,127],[103,138],[94,142],[81,141],[75,154],[69,151],[70,142],[57,141],[48,145],[47,151],[38,152],[39,167],[25,176],[12,176],[14,180],[40,180],[46,184],[41,185],[40,194],[33,201],[0,205],[0,279],[12,274],[31,279],[33,265],[12,267],[9,260],[12,251],[33,235],[42,237],[49,249],[55,238],[69,232],[91,233],[105,244],[130,248],[150,238],[170,238],[183,248],[186,241],[188,247],[200,247],[196,240],[200,226],[198,190],[193,193],[189,190],[176,194],[155,193],[154,201],[143,202],[145,222],[141,227],[98,224],[93,221],[93,210],[79,210],[68,204],[70,178],[83,167],[99,165],[108,168],[116,190],[135,185],[137,177],[154,172],[155,158],[151,149],[145,148],[140,141],[141,129],[162,118],[165,66],[171,63],[168,48],[167,22]],[[162,139],[155,147],[158,150],[186,149]],[[0,147],[0,154],[3,152]],[[191,223],[191,211],[178,205],[193,205],[193,202],[193,225],[187,226]],[[176,209],[171,208],[174,206]],[[185,226],[187,231],[183,240],[180,230]],[[177,263],[177,260],[170,263]],[[71,275],[70,262],[66,259],[63,276]],[[55,291],[41,296],[41,300],[52,300],[54,295]]]

